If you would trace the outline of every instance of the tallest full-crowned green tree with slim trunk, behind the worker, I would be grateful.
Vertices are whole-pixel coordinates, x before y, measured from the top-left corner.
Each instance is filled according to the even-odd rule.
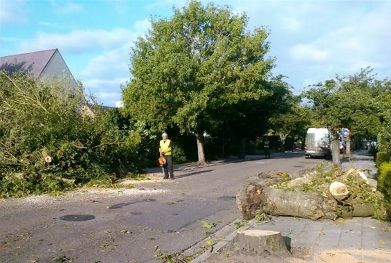
[[[245,14],[199,1],[174,8],[170,19],[151,22],[152,29],[131,51],[124,112],[154,129],[176,126],[194,134],[204,163],[204,132],[220,127],[231,106],[268,95],[269,33],[248,30]]]

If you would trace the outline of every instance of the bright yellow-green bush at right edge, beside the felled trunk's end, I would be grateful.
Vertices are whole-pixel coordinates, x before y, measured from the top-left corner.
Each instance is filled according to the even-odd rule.
[[[391,221],[391,163],[382,163],[378,177],[379,191],[384,195],[384,206],[387,211],[387,219]]]

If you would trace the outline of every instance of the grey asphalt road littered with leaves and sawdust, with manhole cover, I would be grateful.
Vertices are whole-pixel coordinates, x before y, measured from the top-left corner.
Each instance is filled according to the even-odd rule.
[[[322,161],[303,152],[253,156],[181,165],[175,180],[137,183],[134,194],[0,200],[0,262],[163,262],[239,220],[235,194],[248,176],[298,172]]]

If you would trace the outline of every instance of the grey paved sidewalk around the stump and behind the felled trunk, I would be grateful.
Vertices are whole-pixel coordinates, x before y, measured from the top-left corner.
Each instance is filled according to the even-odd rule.
[[[368,179],[376,180],[377,170],[372,156],[367,152],[355,152],[344,158],[343,169],[355,167],[365,170]],[[228,227],[228,226],[227,226]],[[297,217],[271,217],[264,224],[255,219],[248,221],[242,229],[274,230],[281,233],[290,248],[293,259],[281,262],[391,262],[391,225],[370,217],[353,219],[316,220]],[[224,246],[235,238],[236,229],[232,224],[231,233],[216,233],[220,242],[212,253],[207,251],[193,260],[197,262],[249,262],[249,257],[232,255]],[[251,257],[251,262],[253,261]],[[259,258],[259,262],[273,262]]]

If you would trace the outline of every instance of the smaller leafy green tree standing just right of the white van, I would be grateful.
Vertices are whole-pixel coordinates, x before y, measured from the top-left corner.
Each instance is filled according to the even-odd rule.
[[[385,81],[376,80],[372,71],[368,67],[348,77],[337,75],[334,80],[312,85],[304,93],[319,122],[329,127],[334,135],[333,162],[337,165],[340,164],[338,137],[341,128],[347,127],[350,136],[356,138],[373,138],[381,131],[376,96],[385,91]]]

